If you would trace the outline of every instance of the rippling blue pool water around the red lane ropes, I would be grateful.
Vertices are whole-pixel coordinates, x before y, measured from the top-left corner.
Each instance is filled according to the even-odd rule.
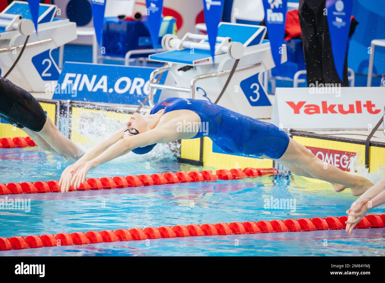
[[[214,169],[177,163],[164,148],[162,153],[139,158],[130,153],[94,168],[88,177]],[[69,164],[37,148],[0,149],[0,183],[59,180]],[[0,237],[341,216],[356,199],[348,191],[335,193],[331,185],[295,175],[17,197],[30,200],[30,211],[0,210]],[[277,199],[290,200],[290,207],[275,206]],[[371,213],[382,214],[383,208]],[[328,230],[187,237],[1,251],[0,256],[385,255],[384,232],[356,229],[350,236],[344,230]]]

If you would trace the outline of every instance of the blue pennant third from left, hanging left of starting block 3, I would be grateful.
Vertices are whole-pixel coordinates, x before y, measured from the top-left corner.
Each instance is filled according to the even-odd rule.
[[[156,52],[159,43],[159,30],[162,23],[163,0],[146,0],[148,30]]]

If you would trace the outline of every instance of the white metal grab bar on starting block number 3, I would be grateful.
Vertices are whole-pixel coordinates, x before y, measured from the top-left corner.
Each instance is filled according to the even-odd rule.
[[[240,72],[240,71],[248,70],[248,69],[251,69],[251,68],[259,67],[259,66],[261,66],[261,64],[262,64],[261,62],[256,62],[256,63],[244,65],[244,66],[241,66],[241,67],[237,67],[234,72]],[[156,70],[154,70],[151,73],[151,75],[150,75],[150,82],[151,83],[149,85],[149,93],[150,93],[149,104],[150,104],[151,107],[155,106],[154,95],[155,95],[156,91],[154,92],[153,89],[155,89],[155,90],[156,89],[173,90],[173,91],[176,91],[176,92],[189,92],[189,93],[191,93],[191,98],[194,99],[195,98],[195,90],[196,90],[195,85],[196,85],[196,83],[199,80],[204,80],[204,79],[207,79],[207,78],[221,77],[221,76],[229,75],[231,73],[231,69],[228,69],[228,70],[223,70],[223,71],[220,71],[220,72],[208,73],[208,74],[205,74],[205,75],[199,75],[199,76],[197,76],[197,77],[195,77],[195,78],[193,78],[191,80],[190,88],[175,87],[175,86],[172,86],[172,85],[161,85],[159,83],[154,83],[156,75],[160,75],[161,73],[164,73],[167,70],[170,70],[171,67],[172,67],[172,65],[166,64],[166,65],[164,65],[161,68],[157,68]]]

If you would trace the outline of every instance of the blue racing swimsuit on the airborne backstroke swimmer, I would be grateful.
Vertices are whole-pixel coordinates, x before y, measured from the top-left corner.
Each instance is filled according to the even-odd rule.
[[[191,110],[201,118],[201,130],[193,138],[209,137],[222,150],[246,156],[280,158],[289,137],[273,124],[236,113],[206,100],[170,97],[157,103],[150,114],[164,109]]]

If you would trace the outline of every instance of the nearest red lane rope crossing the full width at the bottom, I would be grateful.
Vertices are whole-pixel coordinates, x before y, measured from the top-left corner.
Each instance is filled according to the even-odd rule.
[[[73,232],[45,234],[41,236],[28,235],[14,236],[10,238],[0,238],[0,251],[23,250],[27,248],[42,248],[51,246],[72,246],[88,245],[95,243],[110,243],[117,241],[141,241],[147,239],[176,238],[176,237],[194,237],[194,236],[217,236],[217,235],[238,235],[238,234],[257,234],[274,232],[301,232],[315,230],[342,230],[345,229],[347,216],[341,217],[315,217],[271,220],[271,221],[246,221],[216,224],[192,224],[117,229],[103,231]],[[385,214],[371,214],[364,216],[357,224],[358,229],[384,228]]]

